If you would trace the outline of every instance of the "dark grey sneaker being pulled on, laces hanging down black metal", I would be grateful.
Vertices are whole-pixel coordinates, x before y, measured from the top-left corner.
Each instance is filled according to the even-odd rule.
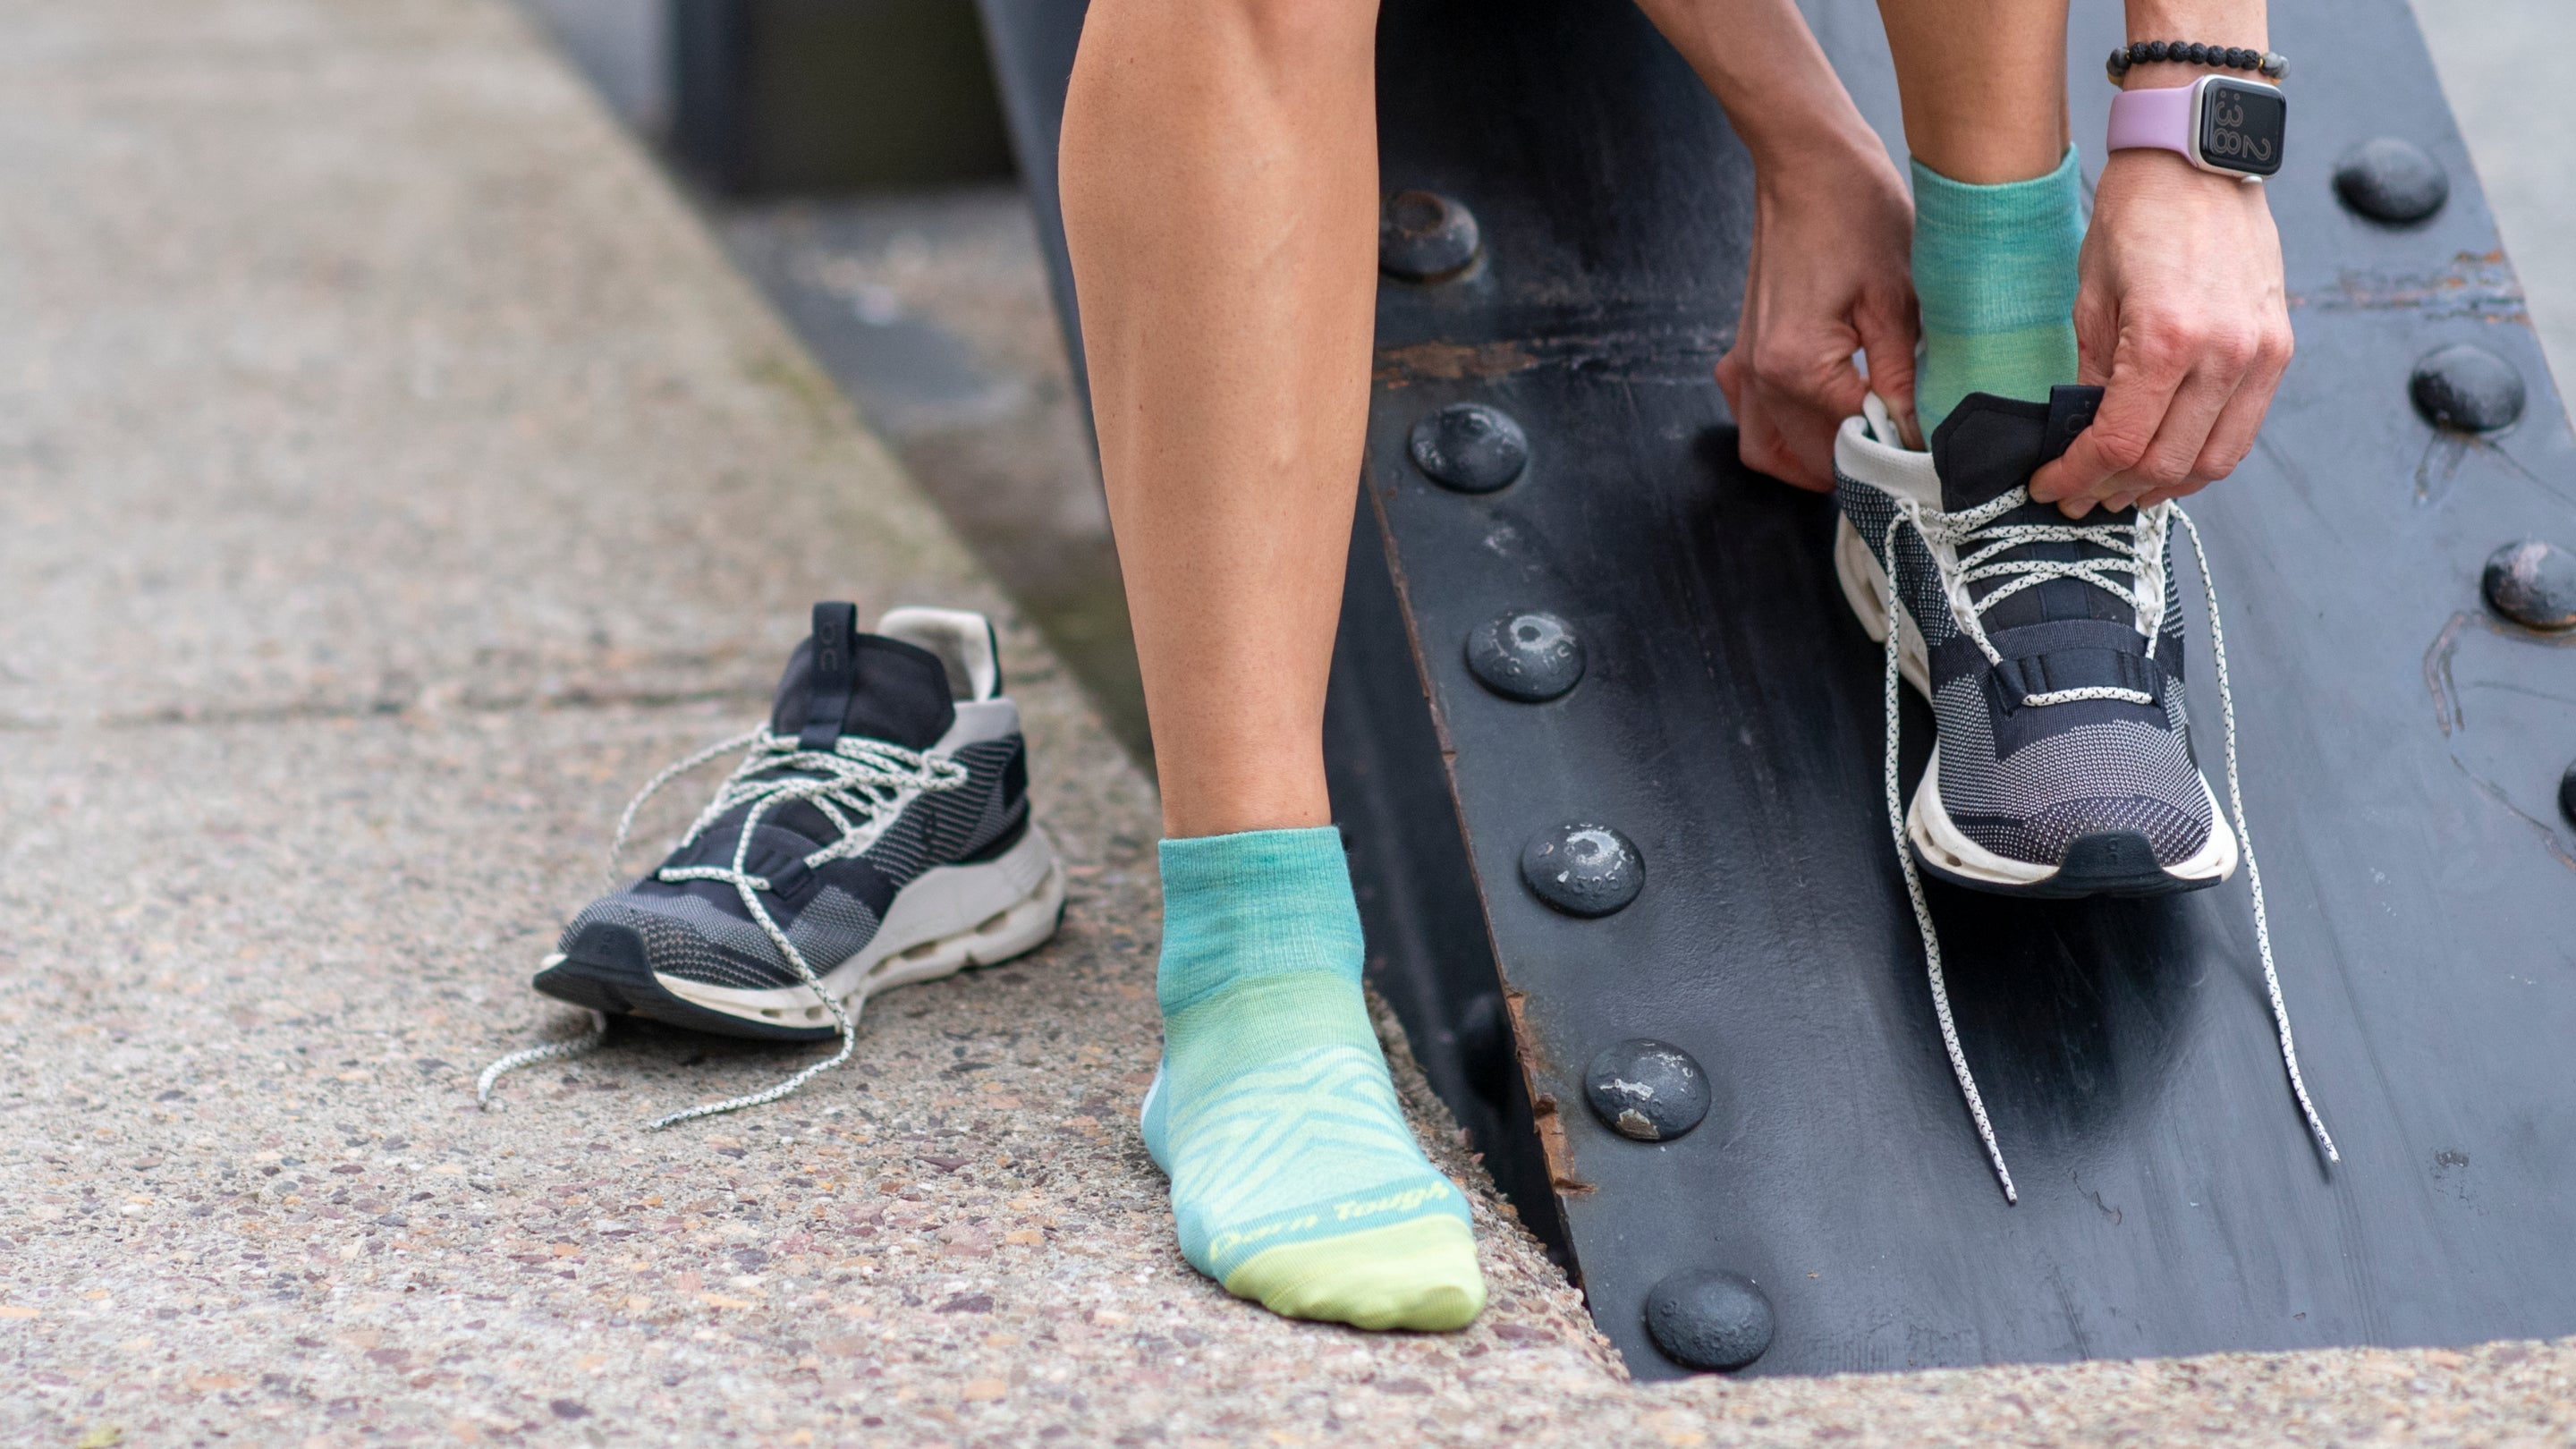
[[[2244,853],[2282,1065],[2311,1134],[2334,1160],[2334,1140],[2298,1073],[2262,874],[2251,846],[2241,846],[2236,709],[2200,531],[2172,503],[2071,521],[2030,500],[2030,477],[2092,423],[2099,400],[2099,387],[2058,387],[2048,402],[1976,392],[1922,454],[1896,446],[1886,405],[1870,397],[1834,438],[1842,508],[1834,572],[1888,660],[1891,830],[1924,936],[1942,1044],[2007,1199],[2014,1199],[2012,1173],[1950,1021],[1919,874],[1999,895],[2166,895],[2228,879]],[[2190,534],[2208,588],[2233,830],[2192,758],[2174,523]],[[1899,678],[1932,701],[1940,730],[1904,810]]]

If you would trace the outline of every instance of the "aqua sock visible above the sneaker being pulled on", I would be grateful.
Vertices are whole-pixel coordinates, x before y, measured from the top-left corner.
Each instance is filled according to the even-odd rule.
[[[1914,162],[1914,297],[1924,366],[1914,418],[1929,438],[1971,392],[2045,402],[2076,382],[2076,150],[2048,175],[1968,186]]]

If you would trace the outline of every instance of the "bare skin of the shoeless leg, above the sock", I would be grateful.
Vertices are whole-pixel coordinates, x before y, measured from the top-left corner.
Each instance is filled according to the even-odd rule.
[[[1170,835],[1324,825],[1368,423],[1376,0],[1097,0],[1064,229]]]

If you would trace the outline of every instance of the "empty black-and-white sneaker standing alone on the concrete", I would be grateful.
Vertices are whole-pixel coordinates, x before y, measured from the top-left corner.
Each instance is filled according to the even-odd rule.
[[[896,608],[876,634],[814,606],[770,719],[654,776],[744,750],[652,874],[590,902],[536,990],[726,1036],[842,1039],[793,1080],[659,1119],[775,1101],[848,1060],[876,990],[1005,962],[1054,936],[1064,869],[1030,820],[1020,709],[992,624]]]

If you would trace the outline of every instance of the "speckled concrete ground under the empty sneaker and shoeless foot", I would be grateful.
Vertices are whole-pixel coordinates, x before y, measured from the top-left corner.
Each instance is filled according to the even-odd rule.
[[[2576,1439],[2568,1343],[1636,1387],[1414,1080],[1494,1310],[1226,1299],[1131,1124],[1151,789],[526,21],[0,34],[5,1441]],[[1007,619],[1064,936],[775,1109],[641,1134],[811,1052],[621,1031],[477,1111],[819,596]]]

